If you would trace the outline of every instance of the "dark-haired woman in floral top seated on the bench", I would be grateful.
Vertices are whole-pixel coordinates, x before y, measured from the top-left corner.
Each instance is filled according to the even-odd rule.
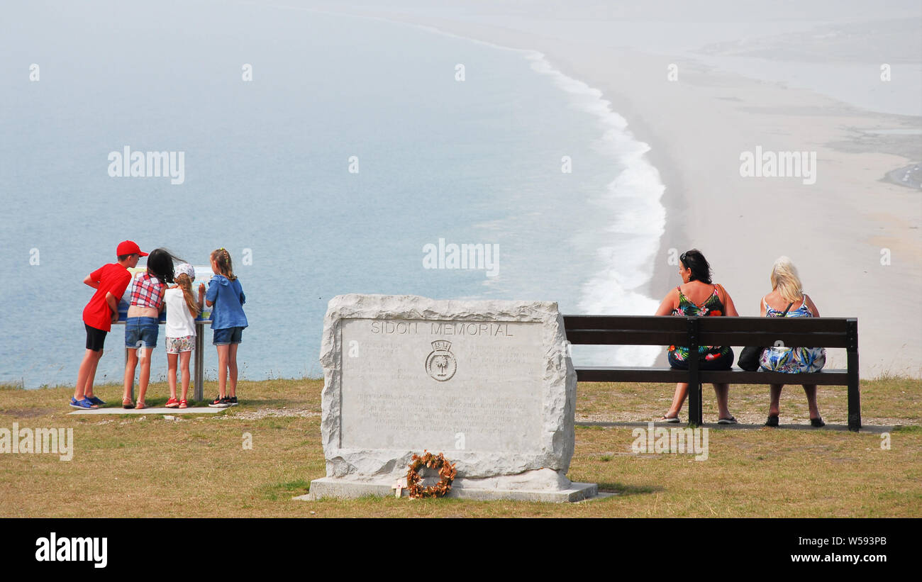
[[[683,252],[679,257],[679,274],[682,285],[669,291],[666,298],[656,309],[656,315],[678,315],[697,317],[738,317],[737,308],[733,305],[727,291],[720,285],[711,283],[711,265],[704,258],[700,250],[692,249]],[[733,366],[733,350],[728,345],[701,345],[698,354],[690,354],[689,348],[681,345],[670,345],[668,350],[669,366],[686,370],[689,367],[690,357],[698,358],[698,366],[703,370],[728,370]],[[667,423],[679,422],[679,411],[685,397],[688,395],[689,385],[680,382],[676,386],[676,393],[672,397],[672,406],[659,420]],[[717,409],[720,413],[717,422],[721,425],[734,425],[737,422],[729,411],[730,385],[715,384],[714,392],[717,396]]]

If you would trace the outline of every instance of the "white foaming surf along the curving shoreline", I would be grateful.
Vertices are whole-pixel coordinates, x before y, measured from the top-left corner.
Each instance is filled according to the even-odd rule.
[[[597,271],[583,285],[579,309],[593,314],[652,315],[659,302],[637,289],[653,277],[659,240],[666,227],[666,208],[660,204],[666,187],[644,156],[650,147],[633,137],[625,119],[611,110],[611,102],[602,99],[597,88],[562,74],[541,52],[528,51],[526,58],[535,71],[550,76],[570,95],[574,108],[597,116],[603,128],[601,147],[622,168],[607,192],[600,192],[592,201],[609,211],[611,224],[599,233]],[[661,349],[646,345],[583,346],[576,348],[575,357],[586,363],[649,366]]]

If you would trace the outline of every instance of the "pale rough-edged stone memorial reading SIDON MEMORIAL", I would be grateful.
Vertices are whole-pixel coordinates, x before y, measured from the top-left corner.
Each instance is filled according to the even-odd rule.
[[[597,495],[566,477],[576,375],[556,303],[337,296],[320,360],[326,476],[306,498],[401,495],[424,449],[455,463],[449,496]]]

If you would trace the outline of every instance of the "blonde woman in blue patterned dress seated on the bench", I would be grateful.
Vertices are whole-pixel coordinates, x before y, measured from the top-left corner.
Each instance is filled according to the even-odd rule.
[[[798,270],[787,257],[779,257],[772,267],[772,292],[762,297],[762,317],[776,318],[787,314],[789,318],[818,318],[820,310],[813,304],[812,299],[803,292]],[[786,372],[799,374],[805,372],[818,372],[826,364],[826,350],[822,347],[786,347],[773,346],[762,352],[759,362],[763,370],[769,372]],[[820,411],[816,405],[816,384],[803,384],[807,394],[807,404],[810,407],[810,425],[819,427],[822,422]],[[768,408],[768,421],[766,426],[778,425],[778,401],[781,398],[781,389],[784,384],[771,384],[772,402]]]

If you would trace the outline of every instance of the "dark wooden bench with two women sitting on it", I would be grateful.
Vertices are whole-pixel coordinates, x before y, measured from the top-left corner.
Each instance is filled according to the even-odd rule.
[[[580,382],[688,382],[689,424],[702,424],[702,384],[819,384],[848,387],[848,429],[861,428],[858,387],[858,324],[838,318],[731,318],[564,315],[569,343],[578,345],[804,345],[844,347],[847,369],[811,374],[701,370],[691,358],[688,370],[671,367],[576,367]],[[781,343],[776,343],[781,342]],[[739,357],[739,349],[734,350]]]

